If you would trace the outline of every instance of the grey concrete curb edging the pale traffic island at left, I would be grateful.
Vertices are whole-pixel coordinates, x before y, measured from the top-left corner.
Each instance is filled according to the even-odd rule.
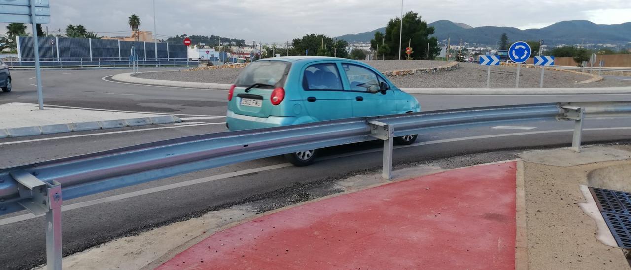
[[[51,124],[32,127],[13,127],[0,129],[0,139],[35,136],[43,134],[55,134],[71,131],[91,131],[95,129],[112,129],[114,127],[134,127],[151,124],[170,124],[182,122],[182,119],[174,115],[159,115],[155,117],[141,117],[133,119],[76,122],[68,124]]]

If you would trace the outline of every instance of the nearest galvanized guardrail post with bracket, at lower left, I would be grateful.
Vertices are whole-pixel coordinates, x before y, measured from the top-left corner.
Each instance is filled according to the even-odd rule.
[[[18,182],[18,204],[31,213],[46,214],[46,267],[61,270],[61,185],[44,182],[27,172],[12,172]]]

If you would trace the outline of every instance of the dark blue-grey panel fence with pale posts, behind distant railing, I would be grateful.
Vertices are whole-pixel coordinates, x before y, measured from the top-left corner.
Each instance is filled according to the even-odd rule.
[[[42,58],[112,58],[129,57],[131,47],[139,57],[155,58],[153,42],[131,42],[91,38],[38,37]],[[33,37],[18,37],[18,57],[33,58]],[[185,45],[158,43],[159,58],[187,58]]]

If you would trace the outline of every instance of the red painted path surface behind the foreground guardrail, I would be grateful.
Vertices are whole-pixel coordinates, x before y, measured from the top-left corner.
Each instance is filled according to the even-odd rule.
[[[157,269],[515,269],[516,161],[380,185],[215,233]]]

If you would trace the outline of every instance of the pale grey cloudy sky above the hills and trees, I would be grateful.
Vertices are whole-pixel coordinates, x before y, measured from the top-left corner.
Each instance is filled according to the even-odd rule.
[[[399,0],[155,0],[160,37],[220,35],[264,43],[285,42],[305,33],[329,37],[374,30],[400,16]],[[539,28],[563,20],[594,23],[631,21],[630,0],[403,0],[428,23],[451,20],[471,26]],[[153,30],[153,0],[50,0],[49,31],[84,25],[99,35],[129,35],[136,14],[141,30]],[[4,30],[6,23],[0,23]],[[30,32],[30,25],[29,30]]]

